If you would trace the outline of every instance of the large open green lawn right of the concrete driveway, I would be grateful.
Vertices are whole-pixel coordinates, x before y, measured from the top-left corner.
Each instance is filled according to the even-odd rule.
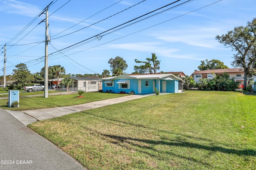
[[[186,91],[28,125],[89,170],[256,167],[256,96]]]

